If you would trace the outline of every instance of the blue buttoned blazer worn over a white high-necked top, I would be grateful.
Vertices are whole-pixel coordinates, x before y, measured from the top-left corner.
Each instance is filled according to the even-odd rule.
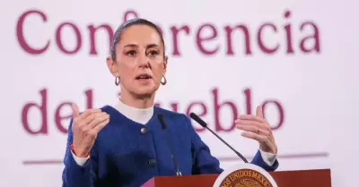
[[[109,124],[99,132],[90,158],[83,166],[76,164],[69,149],[73,142],[72,120],[70,122],[63,187],[139,187],[154,176],[176,175],[171,149],[183,175],[223,172],[187,115],[155,106],[152,119],[143,125],[128,119],[112,106],[101,109],[109,114]],[[163,115],[165,130],[157,120],[158,114]],[[278,166],[277,161],[274,166],[268,166],[259,151],[251,163],[267,171],[274,171]]]

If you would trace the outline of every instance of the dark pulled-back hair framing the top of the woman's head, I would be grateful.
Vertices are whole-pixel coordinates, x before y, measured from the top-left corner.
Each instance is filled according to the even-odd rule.
[[[126,30],[128,27],[132,26],[132,25],[146,25],[149,26],[151,28],[153,28],[153,30],[156,30],[157,34],[160,36],[161,38],[161,42],[163,45],[163,57],[164,55],[164,51],[165,51],[165,47],[164,47],[164,40],[163,40],[163,36],[162,36],[162,32],[161,30],[151,21],[147,21],[144,19],[140,19],[140,18],[136,18],[136,19],[132,19],[129,21],[125,21],[124,23],[122,23],[118,29],[115,31],[115,34],[112,38],[112,42],[111,42],[111,49],[110,49],[110,55],[111,58],[113,60],[116,59],[116,46],[118,45],[118,42],[121,39],[121,35],[124,32],[124,30]]]

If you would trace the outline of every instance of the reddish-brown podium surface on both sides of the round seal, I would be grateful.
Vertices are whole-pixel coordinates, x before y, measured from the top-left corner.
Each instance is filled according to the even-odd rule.
[[[329,169],[269,173],[278,187],[331,187]],[[153,177],[143,187],[213,187],[218,174]]]

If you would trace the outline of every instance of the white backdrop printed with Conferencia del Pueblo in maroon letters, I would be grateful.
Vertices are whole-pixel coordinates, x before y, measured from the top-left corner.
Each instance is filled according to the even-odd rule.
[[[1,0],[1,186],[61,185],[71,115],[66,103],[85,109],[116,102],[105,64],[109,33],[134,13],[161,27],[170,55],[168,85],[157,103],[203,114],[251,157],[258,144],[231,129],[232,114],[255,113],[267,102],[278,170],[331,168],[333,186],[357,186],[357,6],[338,0]],[[240,162],[212,134],[198,133],[224,168]]]

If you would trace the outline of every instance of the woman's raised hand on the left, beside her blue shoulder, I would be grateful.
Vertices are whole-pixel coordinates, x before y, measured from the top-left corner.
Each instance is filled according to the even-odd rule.
[[[87,157],[97,134],[109,123],[109,115],[101,109],[87,109],[81,115],[78,106],[73,105],[73,146],[77,157]]]

